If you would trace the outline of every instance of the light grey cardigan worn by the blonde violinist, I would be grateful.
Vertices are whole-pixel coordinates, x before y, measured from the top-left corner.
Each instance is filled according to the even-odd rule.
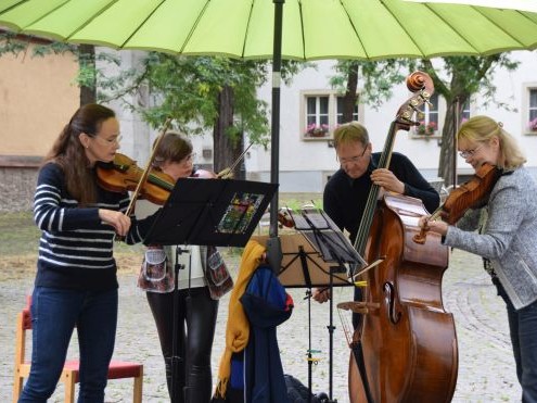
[[[449,226],[444,243],[488,257],[515,310],[537,300],[537,184],[520,167],[496,182],[483,234],[480,211]]]

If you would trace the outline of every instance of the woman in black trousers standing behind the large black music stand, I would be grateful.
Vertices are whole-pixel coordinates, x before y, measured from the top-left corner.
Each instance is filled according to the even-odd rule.
[[[193,168],[192,143],[181,134],[167,131],[154,151],[154,168],[176,181],[190,176],[216,178],[214,173]],[[201,179],[200,179],[201,180]],[[144,201],[137,204],[137,211]],[[156,209],[153,207],[153,210]],[[209,402],[213,389],[210,353],[215,336],[218,299],[232,287],[223,261],[214,247],[177,245],[150,247],[146,257],[161,249],[165,256],[165,272],[153,276],[148,270],[148,259],[138,285],[146,291],[161,341],[166,368],[168,392],[172,402]],[[178,287],[175,290],[175,264],[180,264]],[[209,272],[222,269],[228,276],[220,287],[208,287]],[[174,312],[174,293],[178,292],[178,312]],[[176,345],[179,368],[172,379],[174,315],[179,322]],[[172,387],[175,386],[175,390]],[[175,396],[175,398],[174,398]]]

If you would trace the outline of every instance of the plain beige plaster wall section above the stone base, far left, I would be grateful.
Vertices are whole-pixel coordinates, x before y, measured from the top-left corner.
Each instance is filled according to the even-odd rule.
[[[0,58],[0,155],[44,155],[79,105],[72,54]]]

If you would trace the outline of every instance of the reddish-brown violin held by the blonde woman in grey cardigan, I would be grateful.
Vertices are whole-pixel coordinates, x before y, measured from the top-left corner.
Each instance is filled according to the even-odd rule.
[[[435,210],[429,221],[440,216],[444,222],[455,225],[469,209],[480,207],[486,202],[500,175],[501,171],[496,166],[483,164],[470,180],[449,193],[443,205]],[[413,241],[420,244],[425,243],[427,230],[426,226],[421,228],[420,232],[413,236]]]

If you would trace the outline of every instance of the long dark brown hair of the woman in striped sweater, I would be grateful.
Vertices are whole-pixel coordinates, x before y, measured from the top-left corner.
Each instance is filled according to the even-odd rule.
[[[79,136],[94,137],[102,123],[115,116],[114,111],[97,103],[79,108],[44,158],[46,163],[53,161],[63,168],[67,191],[80,205],[97,201],[97,182]]]

